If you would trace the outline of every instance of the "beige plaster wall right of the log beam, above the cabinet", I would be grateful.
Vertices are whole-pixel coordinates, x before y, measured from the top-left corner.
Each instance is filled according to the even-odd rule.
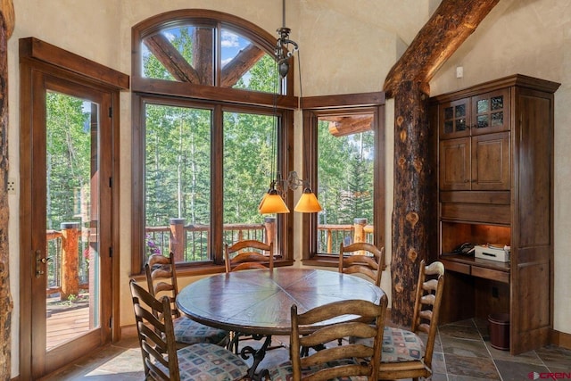
[[[463,79],[456,79],[457,66],[464,67]],[[561,83],[555,93],[553,323],[556,330],[571,334],[571,3],[502,0],[436,74],[431,95],[516,73]]]

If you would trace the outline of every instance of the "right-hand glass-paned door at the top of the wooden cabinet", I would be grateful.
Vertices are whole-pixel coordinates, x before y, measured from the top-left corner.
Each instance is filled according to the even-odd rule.
[[[509,130],[509,89],[472,97],[472,136]]]

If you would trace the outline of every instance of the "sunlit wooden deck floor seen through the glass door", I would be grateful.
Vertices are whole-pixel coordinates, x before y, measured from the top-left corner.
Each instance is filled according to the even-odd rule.
[[[51,311],[46,319],[46,349],[65,343],[89,330],[89,306]]]

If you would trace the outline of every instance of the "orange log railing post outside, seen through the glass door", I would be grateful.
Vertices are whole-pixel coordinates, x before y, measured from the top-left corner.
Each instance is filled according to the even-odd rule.
[[[79,222],[62,222],[62,300],[79,294]]]

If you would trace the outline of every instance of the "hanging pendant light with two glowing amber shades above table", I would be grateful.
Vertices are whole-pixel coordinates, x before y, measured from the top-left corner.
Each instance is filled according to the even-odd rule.
[[[277,42],[276,42],[276,62],[277,62],[277,74],[281,79],[284,79],[289,72],[289,62],[294,52],[299,50],[299,46],[293,40],[289,38],[289,33],[291,29],[285,27],[285,0],[282,0],[282,14],[283,14],[283,24],[282,28],[277,29]],[[290,47],[291,46],[291,47]],[[300,80],[300,104],[299,108],[302,108],[302,69],[300,64],[300,57],[297,54],[297,64],[298,64],[298,74]],[[269,185],[268,192],[262,197],[261,203],[258,206],[258,210],[261,214],[271,214],[271,213],[288,213],[289,208],[285,205],[284,199],[288,189],[296,190],[298,187],[303,186],[302,197],[295,205],[294,211],[299,211],[302,213],[315,213],[322,211],[321,205],[319,204],[318,198],[313,193],[310,187],[310,181],[307,179],[302,179],[297,176],[297,172],[291,171],[287,178],[282,178],[279,172],[274,172],[274,165],[276,163],[276,145],[277,145],[277,85],[280,78],[276,74],[276,83],[274,88],[274,135],[272,137],[272,164],[271,164],[271,176],[272,180]],[[305,162],[306,174],[308,173],[307,161]],[[276,173],[276,178],[274,178],[274,173]]]

